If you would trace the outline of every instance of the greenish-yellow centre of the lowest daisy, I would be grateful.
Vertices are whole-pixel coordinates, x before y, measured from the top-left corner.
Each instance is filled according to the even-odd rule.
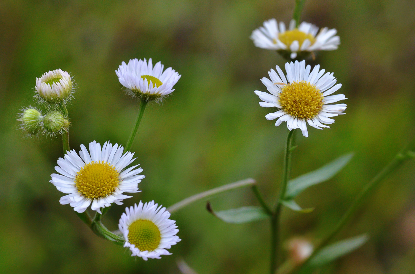
[[[149,220],[137,220],[128,228],[128,241],[140,251],[155,250],[161,240],[159,228]]]

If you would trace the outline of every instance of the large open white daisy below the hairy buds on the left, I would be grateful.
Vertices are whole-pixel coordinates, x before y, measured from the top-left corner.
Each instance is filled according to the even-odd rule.
[[[59,158],[55,170],[61,174],[52,174],[51,183],[68,195],[61,197],[61,204],[70,204],[76,212],[82,213],[91,205],[92,210],[101,213],[101,208],[112,203],[122,204],[123,199],[131,198],[123,192],[140,192],[138,183],[145,177],[138,175],[143,171],[132,166],[123,170],[135,159],[129,151],[122,154],[124,147],[112,146],[105,142],[90,142],[89,152],[81,144],[79,156],[75,150],[66,151],[64,159]]]

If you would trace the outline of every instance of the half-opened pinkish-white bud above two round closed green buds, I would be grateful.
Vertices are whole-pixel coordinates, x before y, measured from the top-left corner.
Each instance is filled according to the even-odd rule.
[[[50,104],[66,102],[71,99],[73,93],[71,75],[61,69],[45,72],[40,78],[36,78],[35,97],[39,103]]]

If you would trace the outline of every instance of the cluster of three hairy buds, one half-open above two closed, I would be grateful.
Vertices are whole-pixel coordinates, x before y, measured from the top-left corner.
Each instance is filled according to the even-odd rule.
[[[75,84],[68,72],[53,70],[36,78],[34,98],[37,103],[48,106],[42,115],[38,108],[28,107],[19,114],[20,128],[29,136],[62,134],[70,125],[68,117],[61,110],[66,110],[66,103],[71,99]]]

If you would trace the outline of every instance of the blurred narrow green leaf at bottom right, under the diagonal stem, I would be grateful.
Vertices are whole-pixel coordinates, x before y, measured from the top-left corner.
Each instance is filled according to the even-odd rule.
[[[366,234],[341,240],[332,245],[328,245],[320,250],[311,260],[308,262],[310,267],[320,267],[328,264],[347,253],[359,248],[361,245],[366,243],[368,236]]]

